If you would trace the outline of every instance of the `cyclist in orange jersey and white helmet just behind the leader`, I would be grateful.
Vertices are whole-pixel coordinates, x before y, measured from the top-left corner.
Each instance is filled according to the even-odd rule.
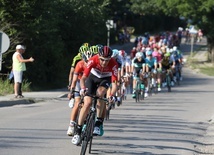
[[[74,102],[74,107],[71,110],[71,115],[70,115],[70,124],[67,130],[67,135],[68,136],[73,136],[74,135],[74,125],[76,124],[75,120],[77,117],[77,112],[78,112],[78,103],[80,102],[80,94],[75,91],[80,91],[80,79],[82,77],[83,71],[86,68],[86,63],[89,58],[92,57],[91,51],[89,51],[89,48],[83,48],[84,51],[82,51],[82,59],[79,61],[75,67],[74,74],[73,74],[73,80],[71,84],[71,91],[68,94],[68,98],[75,98]]]

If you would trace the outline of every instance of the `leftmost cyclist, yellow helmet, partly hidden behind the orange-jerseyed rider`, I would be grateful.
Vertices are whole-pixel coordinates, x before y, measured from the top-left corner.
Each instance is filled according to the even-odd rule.
[[[85,43],[86,44],[86,43]],[[69,73],[69,77],[68,77],[68,81],[69,81],[69,84],[68,84],[68,90],[71,89],[71,83],[72,83],[72,79],[73,79],[73,73],[74,73],[74,69],[75,69],[75,66],[76,64],[82,60],[82,57],[81,57],[81,54],[83,51],[87,51],[89,49],[88,46],[85,46],[85,45],[82,45],[80,48],[79,48],[79,53],[73,58],[73,61],[72,61],[72,64],[71,64],[71,69],[70,69],[70,73]]]

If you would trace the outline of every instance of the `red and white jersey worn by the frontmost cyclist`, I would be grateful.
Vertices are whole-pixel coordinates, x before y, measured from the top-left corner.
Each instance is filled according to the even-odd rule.
[[[100,65],[99,55],[91,57],[87,63],[83,75],[88,77],[90,73],[98,78],[105,78],[111,76],[112,82],[117,82],[118,65],[115,59],[111,58],[106,67]]]

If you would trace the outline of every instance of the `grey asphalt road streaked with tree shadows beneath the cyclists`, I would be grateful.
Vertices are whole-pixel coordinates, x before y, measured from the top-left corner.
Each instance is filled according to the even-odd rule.
[[[128,96],[111,111],[104,136],[93,141],[92,154],[196,155],[207,154],[206,147],[211,151],[214,138],[207,131],[214,114],[214,78],[184,67],[183,79],[172,92],[163,89],[142,103]],[[1,107],[0,155],[78,155],[80,147],[66,135],[70,109],[67,99],[59,97],[62,93],[26,93],[26,98],[37,95],[40,102]]]

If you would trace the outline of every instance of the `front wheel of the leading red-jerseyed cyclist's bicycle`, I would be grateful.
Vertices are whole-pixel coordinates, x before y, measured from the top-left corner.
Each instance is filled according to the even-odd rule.
[[[80,155],[85,155],[85,152],[87,150],[88,142],[91,138],[91,132],[93,132],[92,123],[93,123],[93,117],[92,115],[89,115],[88,121],[86,123],[86,130],[83,131],[83,134],[82,134],[82,146],[81,146]]]

